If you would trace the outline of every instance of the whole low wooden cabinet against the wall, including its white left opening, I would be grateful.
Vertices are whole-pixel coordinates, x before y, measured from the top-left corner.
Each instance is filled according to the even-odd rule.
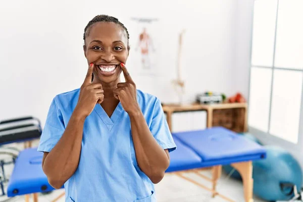
[[[163,104],[162,107],[164,113],[167,116],[167,122],[171,132],[203,129],[213,126],[223,126],[235,132],[247,131],[246,103],[227,103],[212,105]],[[183,113],[184,116],[181,115]]]

